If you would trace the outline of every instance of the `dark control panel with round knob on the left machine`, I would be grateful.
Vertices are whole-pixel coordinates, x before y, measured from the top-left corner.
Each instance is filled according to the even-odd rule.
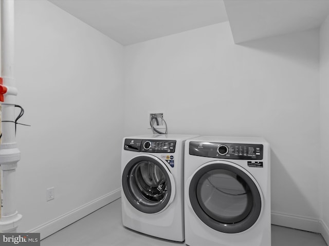
[[[124,149],[148,153],[174,153],[176,140],[130,139],[124,140]]]

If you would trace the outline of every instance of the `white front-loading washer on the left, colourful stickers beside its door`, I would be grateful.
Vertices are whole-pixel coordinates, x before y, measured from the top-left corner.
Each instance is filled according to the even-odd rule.
[[[121,156],[122,223],[184,241],[184,144],[194,135],[125,137]]]

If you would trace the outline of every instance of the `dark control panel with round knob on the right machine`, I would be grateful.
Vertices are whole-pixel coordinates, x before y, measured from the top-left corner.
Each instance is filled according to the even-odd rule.
[[[189,153],[222,159],[262,160],[263,145],[192,141]]]

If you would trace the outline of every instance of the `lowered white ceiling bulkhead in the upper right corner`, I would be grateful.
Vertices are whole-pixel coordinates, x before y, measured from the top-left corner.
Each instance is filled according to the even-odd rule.
[[[317,28],[329,13],[328,0],[225,0],[234,42]]]

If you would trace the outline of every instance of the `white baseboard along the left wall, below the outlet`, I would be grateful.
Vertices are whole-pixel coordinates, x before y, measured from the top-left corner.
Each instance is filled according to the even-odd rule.
[[[48,237],[64,227],[67,227],[69,224],[76,222],[77,220],[93,213],[94,211],[104,207],[106,204],[115,201],[120,197],[121,189],[117,189],[111,193],[90,201],[77,209],[50,220],[47,223],[30,230],[28,233],[40,233],[40,239],[44,239],[45,237]]]

